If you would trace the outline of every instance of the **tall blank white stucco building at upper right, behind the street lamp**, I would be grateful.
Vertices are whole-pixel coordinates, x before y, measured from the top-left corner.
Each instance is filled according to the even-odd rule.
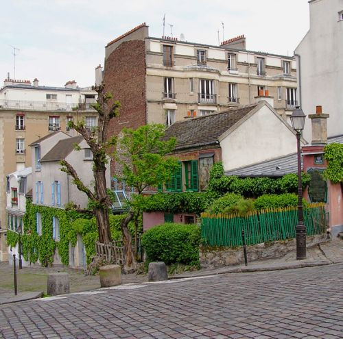
[[[328,136],[343,133],[343,0],[309,1],[309,32],[296,47],[298,97],[306,115],[322,105]],[[307,119],[304,137],[311,140]]]

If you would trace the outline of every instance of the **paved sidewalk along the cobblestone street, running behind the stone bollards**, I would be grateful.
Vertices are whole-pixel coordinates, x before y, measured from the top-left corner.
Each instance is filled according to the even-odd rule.
[[[247,247],[249,251],[249,247]],[[258,271],[279,271],[293,268],[329,265],[343,262],[343,240],[331,240],[307,249],[305,260],[296,260],[296,253],[288,253],[282,258],[257,260],[248,262],[248,266],[226,266],[202,269],[170,275],[169,279],[204,277],[226,273],[248,273]],[[100,288],[98,275],[84,275],[82,271],[75,271],[64,267],[24,267],[18,270],[19,295],[14,296],[13,268],[7,262],[0,263],[0,305],[35,299],[47,292],[47,275],[54,272],[69,273],[70,291],[81,292]],[[141,284],[147,282],[147,275],[122,275],[123,284]]]

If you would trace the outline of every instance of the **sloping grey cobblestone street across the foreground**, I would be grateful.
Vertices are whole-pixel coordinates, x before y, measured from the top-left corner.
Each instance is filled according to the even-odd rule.
[[[343,264],[122,285],[0,307],[1,338],[343,337]]]

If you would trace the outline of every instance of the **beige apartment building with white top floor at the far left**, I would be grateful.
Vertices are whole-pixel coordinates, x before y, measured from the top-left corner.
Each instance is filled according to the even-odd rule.
[[[31,148],[34,140],[65,131],[76,132],[67,122],[86,120],[88,127],[97,125],[97,112],[91,103],[97,93],[91,88],[78,88],[75,81],[64,87],[38,86],[28,80],[5,79],[0,88],[0,261],[8,259],[6,229],[5,175],[32,166]]]

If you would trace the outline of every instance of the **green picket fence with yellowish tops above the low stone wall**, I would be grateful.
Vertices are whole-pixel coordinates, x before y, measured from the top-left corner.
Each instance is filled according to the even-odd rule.
[[[210,246],[241,246],[242,229],[248,245],[296,237],[296,207],[253,211],[244,216],[210,213],[201,216],[201,235]],[[327,229],[324,204],[311,203],[304,208],[304,223],[308,236],[324,234]]]

